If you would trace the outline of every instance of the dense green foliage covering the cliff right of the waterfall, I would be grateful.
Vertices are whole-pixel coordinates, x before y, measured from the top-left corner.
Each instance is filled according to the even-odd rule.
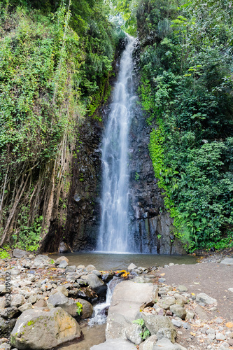
[[[190,251],[224,248],[233,224],[232,8],[161,3],[149,1],[138,17],[143,33],[157,33],[141,54],[139,88],[153,125],[150,157],[175,234]]]

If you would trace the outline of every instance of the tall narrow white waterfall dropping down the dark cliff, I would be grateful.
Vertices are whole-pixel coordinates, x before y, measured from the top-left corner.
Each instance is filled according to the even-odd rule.
[[[128,137],[136,96],[132,81],[135,39],[127,35],[102,144],[101,225],[97,250],[130,251],[128,232]]]

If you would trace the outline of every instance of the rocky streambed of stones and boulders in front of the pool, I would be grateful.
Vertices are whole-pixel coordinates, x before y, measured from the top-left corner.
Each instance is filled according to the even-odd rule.
[[[211,318],[218,300],[203,290],[192,293],[187,286],[167,284],[164,271],[179,268],[173,263],[167,269],[131,264],[127,271],[105,272],[93,265],[69,265],[65,257],[54,261],[17,249],[13,255],[0,261],[0,349],[62,349],[70,342],[66,349],[232,349],[232,314]],[[233,269],[231,261],[225,263]],[[104,302],[101,312],[106,314],[110,281],[115,289],[105,337],[82,347],[88,338],[83,325],[94,323],[95,305]]]

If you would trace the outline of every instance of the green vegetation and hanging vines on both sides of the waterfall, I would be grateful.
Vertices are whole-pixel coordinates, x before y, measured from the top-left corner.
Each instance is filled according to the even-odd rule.
[[[5,0],[0,20],[2,247],[38,248],[54,218],[65,230],[78,130],[111,92],[122,29],[138,36],[148,146],[176,235],[189,251],[233,245],[231,1]]]

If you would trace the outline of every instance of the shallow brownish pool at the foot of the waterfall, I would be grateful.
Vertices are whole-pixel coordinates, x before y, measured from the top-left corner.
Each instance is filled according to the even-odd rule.
[[[87,266],[91,264],[100,271],[127,269],[131,262],[138,267],[162,266],[169,264],[169,262],[174,262],[174,264],[195,264],[197,262],[197,257],[192,255],[116,254],[101,252],[50,254],[50,258],[55,260],[62,255],[69,259],[69,265]]]

